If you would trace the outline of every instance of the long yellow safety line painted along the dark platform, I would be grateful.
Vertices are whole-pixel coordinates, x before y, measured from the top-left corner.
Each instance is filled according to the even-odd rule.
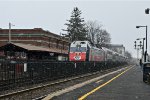
[[[104,87],[105,85],[109,84],[110,82],[112,82],[113,80],[115,80],[116,78],[118,78],[119,76],[121,76],[122,74],[124,74],[125,72],[127,72],[129,69],[131,69],[132,67],[128,68],[127,70],[123,71],[122,73],[120,73],[119,75],[115,76],[114,78],[112,78],[111,80],[107,81],[106,83],[98,86],[97,88],[93,89],[92,91],[86,93],[85,95],[83,95],[82,97],[80,97],[78,100],[84,100],[87,96],[89,96],[90,94],[96,92],[98,89]]]

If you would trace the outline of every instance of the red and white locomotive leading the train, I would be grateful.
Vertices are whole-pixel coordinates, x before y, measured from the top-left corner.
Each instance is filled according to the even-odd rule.
[[[104,61],[105,51],[92,46],[88,41],[74,41],[70,45],[70,61]]]

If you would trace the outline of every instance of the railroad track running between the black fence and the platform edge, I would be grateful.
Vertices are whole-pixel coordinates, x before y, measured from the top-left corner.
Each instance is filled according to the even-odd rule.
[[[24,89],[24,90],[20,90],[20,91],[15,91],[15,92],[3,94],[3,95],[0,95],[0,99],[9,99],[9,100],[15,99],[17,97],[20,97],[21,95],[26,94],[26,93],[31,93],[32,94],[33,92],[36,92],[37,90],[40,91],[41,89],[46,89],[46,88],[49,88],[49,87],[52,87],[52,86],[55,86],[55,85],[59,85],[59,84],[65,84],[66,82],[70,82],[70,81],[74,81],[74,80],[78,80],[78,79],[82,79],[82,78],[86,78],[86,77],[89,78],[90,76],[97,75],[99,73],[107,73],[107,72],[117,70],[117,69],[119,69],[119,68],[111,68],[111,69],[103,70],[103,72],[98,71],[98,72],[88,73],[88,74],[81,75],[81,76],[71,77],[71,78],[67,78],[67,79],[61,79],[61,80],[53,82],[53,83],[47,83],[47,84],[35,86],[33,88],[28,88],[28,89]],[[47,95],[44,94],[44,95],[40,95],[38,97],[37,96],[36,97],[31,96],[30,99],[32,99],[32,100],[41,100],[45,96],[47,96]]]

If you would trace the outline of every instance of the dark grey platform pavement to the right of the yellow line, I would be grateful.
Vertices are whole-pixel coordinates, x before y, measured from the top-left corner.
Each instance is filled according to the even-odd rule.
[[[142,69],[131,70],[107,86],[89,95],[86,100],[150,100],[150,85],[142,81]]]

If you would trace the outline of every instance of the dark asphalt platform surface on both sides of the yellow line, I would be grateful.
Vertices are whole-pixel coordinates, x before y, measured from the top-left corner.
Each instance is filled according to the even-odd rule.
[[[141,68],[134,66],[125,73],[122,72],[119,71],[81,88],[68,91],[52,100],[78,100],[100,86],[100,89],[89,93],[83,100],[150,100],[150,85],[143,83]],[[122,75],[108,82],[120,73]],[[108,83],[102,86],[106,82]]]

